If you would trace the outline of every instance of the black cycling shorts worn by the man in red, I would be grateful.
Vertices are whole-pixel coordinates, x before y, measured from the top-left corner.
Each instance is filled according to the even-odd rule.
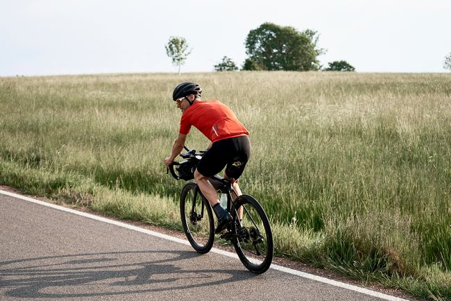
[[[226,166],[228,178],[237,180],[244,171],[250,157],[248,136],[239,136],[214,142],[197,166],[197,171],[205,177],[211,177]]]

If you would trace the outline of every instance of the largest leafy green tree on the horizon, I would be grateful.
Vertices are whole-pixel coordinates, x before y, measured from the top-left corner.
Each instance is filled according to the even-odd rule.
[[[248,33],[243,69],[309,71],[318,70],[318,55],[325,53],[317,49],[316,31],[299,32],[291,26],[264,23]]]

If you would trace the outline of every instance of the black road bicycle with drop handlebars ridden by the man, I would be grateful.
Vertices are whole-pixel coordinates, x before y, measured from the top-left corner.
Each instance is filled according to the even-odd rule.
[[[184,161],[173,162],[169,166],[176,180],[193,180],[196,166],[205,153],[196,153],[196,150],[189,150],[187,146],[185,150],[187,153],[180,154]],[[219,234],[221,239],[232,243],[248,270],[257,274],[266,272],[273,260],[273,234],[262,205],[246,194],[234,200],[232,195],[237,194],[232,184],[220,175],[214,175],[209,180],[219,193],[221,205],[233,218],[227,229]],[[194,250],[201,254],[209,252],[214,243],[213,211],[195,182],[187,182],[182,188],[180,216],[183,230]]]

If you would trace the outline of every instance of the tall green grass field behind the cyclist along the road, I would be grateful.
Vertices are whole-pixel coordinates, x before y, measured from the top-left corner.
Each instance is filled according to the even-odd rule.
[[[241,180],[278,255],[451,300],[451,74],[232,72],[0,78],[0,184],[180,229],[171,101],[203,86],[250,131]],[[190,132],[190,148],[208,141]]]

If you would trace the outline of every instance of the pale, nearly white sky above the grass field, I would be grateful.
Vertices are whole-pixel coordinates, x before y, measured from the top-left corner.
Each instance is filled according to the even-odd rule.
[[[178,71],[164,46],[185,37],[182,72],[239,67],[264,22],[319,34],[318,59],[358,72],[446,72],[450,0],[0,0],[0,76]]]

